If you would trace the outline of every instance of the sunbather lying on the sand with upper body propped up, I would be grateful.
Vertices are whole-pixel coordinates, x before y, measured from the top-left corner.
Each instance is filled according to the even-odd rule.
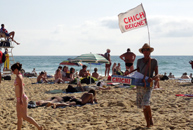
[[[46,106],[53,106],[54,108],[58,106],[69,106],[69,105],[85,105],[86,103],[97,103],[96,92],[94,89],[91,89],[87,93],[84,93],[80,98],[72,98],[68,102],[65,103],[48,103]]]

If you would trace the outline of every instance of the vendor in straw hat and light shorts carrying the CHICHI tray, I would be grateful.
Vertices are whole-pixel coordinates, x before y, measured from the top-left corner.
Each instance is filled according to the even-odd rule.
[[[156,59],[150,57],[150,53],[153,52],[154,48],[150,47],[147,43],[143,45],[139,52],[144,55],[143,58],[137,61],[137,71],[142,73],[144,76],[148,76],[148,82],[151,83],[153,80],[158,79],[158,63]],[[155,76],[153,73],[155,72]],[[137,86],[137,106],[143,108],[147,127],[153,126],[150,97],[152,87]]]

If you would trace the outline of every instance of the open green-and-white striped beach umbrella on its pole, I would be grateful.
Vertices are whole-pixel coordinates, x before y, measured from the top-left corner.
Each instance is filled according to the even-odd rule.
[[[109,61],[99,54],[82,54],[77,56],[74,59],[71,59],[72,62],[86,62],[86,63],[109,63]],[[91,64],[90,64],[91,70]],[[90,83],[91,83],[91,76],[90,76]]]

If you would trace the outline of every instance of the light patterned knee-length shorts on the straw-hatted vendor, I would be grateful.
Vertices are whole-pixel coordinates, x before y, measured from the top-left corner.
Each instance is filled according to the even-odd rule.
[[[143,108],[150,105],[152,87],[137,86],[137,107]]]

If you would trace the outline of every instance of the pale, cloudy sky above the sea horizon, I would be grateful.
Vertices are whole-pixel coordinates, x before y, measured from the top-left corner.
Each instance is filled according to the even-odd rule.
[[[149,43],[147,26],[121,33],[118,14],[143,4],[152,55],[193,55],[193,0],[4,0],[0,23],[15,31],[13,55],[121,55]]]

